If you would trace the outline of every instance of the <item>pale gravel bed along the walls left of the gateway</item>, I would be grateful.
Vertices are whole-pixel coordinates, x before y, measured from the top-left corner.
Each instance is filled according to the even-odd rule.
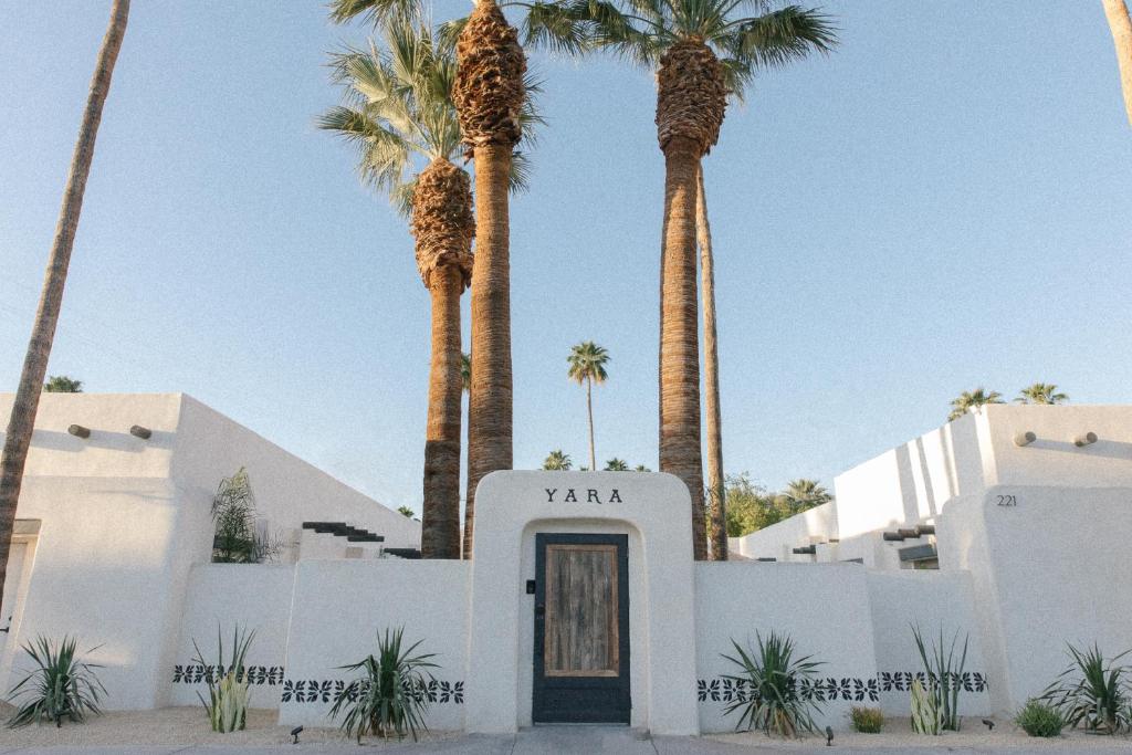
[[[5,717],[7,719],[7,715]],[[50,724],[0,728],[0,747],[49,747],[58,745],[283,745],[291,743],[292,727],[276,723],[278,711],[249,710],[248,728],[243,731],[216,733],[208,727],[201,706],[165,707],[157,711],[112,711],[87,718],[84,723],[63,721],[62,727]],[[458,736],[456,732],[432,731],[421,735],[423,741],[440,741]],[[307,727],[300,735],[303,743],[352,744],[338,729]],[[376,737],[363,744],[374,747],[404,744],[388,743]],[[412,741],[406,739],[406,741]]]

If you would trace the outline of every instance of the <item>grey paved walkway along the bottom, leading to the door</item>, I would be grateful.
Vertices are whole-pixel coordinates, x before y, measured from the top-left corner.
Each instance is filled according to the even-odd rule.
[[[754,747],[724,744],[695,737],[649,737],[646,733],[627,728],[607,727],[538,727],[524,729],[514,736],[466,736],[438,743],[415,745],[393,745],[359,748],[357,745],[316,745],[300,743],[298,746],[276,745],[271,747],[192,745],[168,747],[152,745],[105,746],[105,747],[0,747],[0,755],[343,755],[352,753],[375,753],[375,755],[434,755],[436,753],[460,753],[461,755],[548,755],[557,753],[582,753],[584,755],[761,755],[763,753],[789,753],[791,755],[835,755],[840,753],[1011,753],[1013,755],[1048,755],[1058,752],[1049,747],[1029,749],[1024,746],[995,747],[990,749],[966,747],[825,747],[820,739],[813,747],[775,746],[773,741]],[[1090,753],[1112,752],[1129,755],[1130,743],[1115,745],[1112,750],[1089,749]]]

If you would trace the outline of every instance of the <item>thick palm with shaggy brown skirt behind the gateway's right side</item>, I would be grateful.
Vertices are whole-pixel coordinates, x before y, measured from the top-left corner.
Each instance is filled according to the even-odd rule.
[[[769,0],[576,0],[594,43],[657,71],[657,132],[664,154],[661,254],[660,469],[688,486],[693,554],[707,556],[700,451],[696,197],[701,158],[719,138],[728,95],[743,96],[761,68],[835,42],[816,10]]]

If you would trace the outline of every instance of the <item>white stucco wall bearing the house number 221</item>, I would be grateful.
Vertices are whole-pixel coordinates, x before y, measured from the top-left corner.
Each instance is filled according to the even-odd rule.
[[[938,527],[941,567],[971,574],[996,711],[1053,681],[1065,643],[1132,647],[1132,489],[997,486]]]

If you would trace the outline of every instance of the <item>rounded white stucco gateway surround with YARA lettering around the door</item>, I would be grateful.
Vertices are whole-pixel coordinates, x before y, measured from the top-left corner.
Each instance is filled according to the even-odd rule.
[[[577,503],[564,499],[569,488],[583,491]],[[591,488],[602,503],[588,501]],[[548,489],[558,491],[555,500]],[[534,577],[535,533],[568,531],[629,534],[632,722],[654,733],[696,733],[691,520],[687,487],[670,474],[486,477],[475,494],[468,729],[509,732],[530,722],[533,603],[523,584]]]

